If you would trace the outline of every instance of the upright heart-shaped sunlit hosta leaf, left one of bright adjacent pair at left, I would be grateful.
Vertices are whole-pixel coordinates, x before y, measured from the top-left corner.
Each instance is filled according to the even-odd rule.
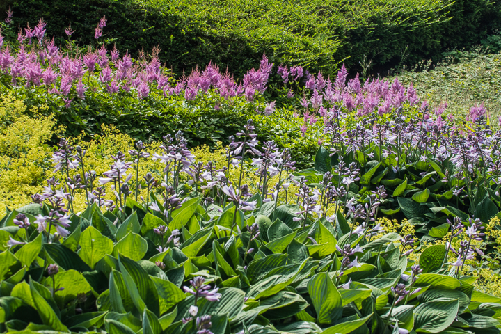
[[[91,269],[94,269],[95,264],[105,255],[111,254],[113,251],[113,241],[104,237],[93,226],[89,226],[82,232],[80,246],[79,255]]]

